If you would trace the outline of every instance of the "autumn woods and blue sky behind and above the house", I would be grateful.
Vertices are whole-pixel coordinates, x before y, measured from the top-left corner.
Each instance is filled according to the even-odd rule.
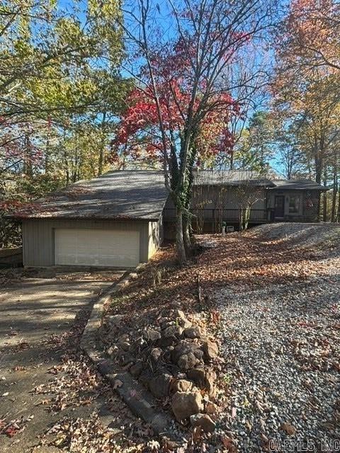
[[[340,222],[339,4],[222,3],[0,2],[0,247],[23,202],[164,162],[183,215],[190,166],[246,168],[329,187]]]

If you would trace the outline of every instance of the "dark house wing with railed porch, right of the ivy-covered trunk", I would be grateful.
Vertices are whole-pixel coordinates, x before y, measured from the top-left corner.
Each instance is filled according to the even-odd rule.
[[[320,193],[327,190],[310,179],[287,180],[261,177],[255,171],[212,171],[196,173],[193,185],[193,229],[221,231],[223,222],[238,226],[240,207],[251,205],[249,224],[266,222],[317,222]],[[164,209],[164,231],[174,231],[175,216],[169,199]]]

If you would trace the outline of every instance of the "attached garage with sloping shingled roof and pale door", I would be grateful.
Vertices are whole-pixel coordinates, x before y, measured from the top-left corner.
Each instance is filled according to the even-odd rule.
[[[21,217],[25,266],[134,268],[162,242],[159,171],[113,171],[53,193]]]

